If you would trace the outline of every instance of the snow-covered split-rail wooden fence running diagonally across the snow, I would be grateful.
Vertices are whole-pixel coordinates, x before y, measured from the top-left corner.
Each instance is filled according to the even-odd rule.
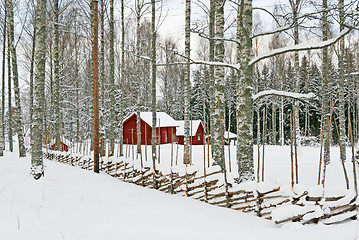
[[[46,151],[44,157],[60,163],[93,170],[90,156],[59,151]],[[224,179],[219,166],[199,171],[194,165],[174,166],[167,171],[142,166],[139,160],[110,157],[101,160],[100,171],[125,182],[143,187],[180,194],[209,204],[250,212],[271,219],[275,224],[301,222],[302,224],[332,224],[356,219],[357,200],[354,191],[342,196],[324,196],[320,187],[310,191],[296,185],[293,190],[282,190],[276,182],[247,182],[238,184]]]

